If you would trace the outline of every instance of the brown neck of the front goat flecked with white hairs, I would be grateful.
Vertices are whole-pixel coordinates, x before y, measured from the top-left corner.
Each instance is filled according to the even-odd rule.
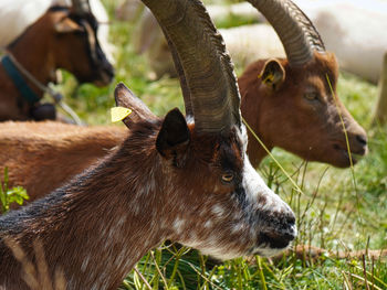
[[[168,210],[159,205],[168,178],[163,176],[160,157],[149,148],[137,155],[123,157],[122,151],[42,200],[50,207],[34,203],[23,211],[28,218],[14,219],[20,224],[12,226],[18,234],[11,236],[30,258],[31,244],[39,238],[49,268],[63,269],[69,289],[116,289],[135,262],[165,238],[160,221]]]

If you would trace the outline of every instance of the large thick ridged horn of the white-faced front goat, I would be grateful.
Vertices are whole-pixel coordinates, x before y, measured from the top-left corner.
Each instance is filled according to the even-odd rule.
[[[237,77],[224,43],[199,0],[143,0],[176,47],[201,132],[241,125]]]

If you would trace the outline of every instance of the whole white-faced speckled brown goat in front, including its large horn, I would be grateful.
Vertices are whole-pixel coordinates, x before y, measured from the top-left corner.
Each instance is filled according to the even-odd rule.
[[[195,114],[188,122],[178,109],[164,119],[126,117],[128,138],[113,155],[2,216],[2,288],[27,289],[4,240],[17,243],[29,260],[33,241],[41,241],[51,278],[61,268],[69,289],[116,289],[167,238],[229,259],[274,255],[296,235],[293,212],[245,154],[232,63],[205,7],[197,0],[144,2],[178,53],[182,95]],[[128,94],[117,86],[118,106],[126,107]]]

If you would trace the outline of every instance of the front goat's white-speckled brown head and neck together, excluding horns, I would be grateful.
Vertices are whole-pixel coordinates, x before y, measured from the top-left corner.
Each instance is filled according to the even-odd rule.
[[[60,268],[69,289],[117,289],[164,239],[217,258],[278,254],[294,239],[295,217],[250,167],[244,143],[237,127],[197,132],[178,109],[134,122],[97,167],[0,217],[0,288],[28,289],[4,240],[33,262],[40,241],[50,280]]]

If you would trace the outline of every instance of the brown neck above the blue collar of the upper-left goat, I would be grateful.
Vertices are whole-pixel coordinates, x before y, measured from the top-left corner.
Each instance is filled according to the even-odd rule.
[[[22,37],[7,49],[38,82],[48,85],[50,82],[56,80],[56,67],[48,37],[44,37],[44,32],[31,33],[30,30],[27,30]],[[23,73],[22,75],[36,96],[43,97],[44,93],[28,79]]]

